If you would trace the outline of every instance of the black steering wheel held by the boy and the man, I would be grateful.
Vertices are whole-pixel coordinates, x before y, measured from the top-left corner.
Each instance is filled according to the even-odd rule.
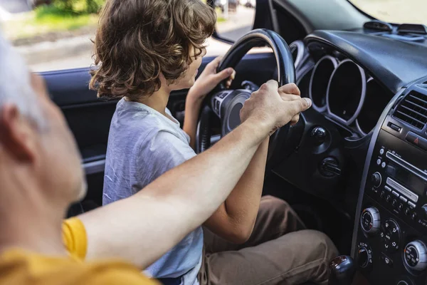
[[[217,71],[220,72],[229,67],[234,68],[251,48],[265,44],[273,49],[278,68],[277,80],[279,86],[295,83],[295,67],[288,44],[278,33],[261,28],[250,31],[238,39],[223,57]],[[240,125],[240,110],[245,100],[251,96],[251,93],[252,91],[247,89],[226,89],[224,83],[220,83],[217,86],[214,93],[204,101],[204,106],[201,108],[196,131],[197,153],[208,149],[211,144],[212,111],[221,120],[222,138]],[[268,158],[273,154],[274,148],[277,147],[278,138],[286,136],[289,128],[289,124],[285,125],[270,137]]]

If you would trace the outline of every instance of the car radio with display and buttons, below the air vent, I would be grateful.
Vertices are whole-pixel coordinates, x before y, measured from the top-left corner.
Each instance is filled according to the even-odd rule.
[[[366,194],[427,232],[427,154],[384,130],[374,151]]]

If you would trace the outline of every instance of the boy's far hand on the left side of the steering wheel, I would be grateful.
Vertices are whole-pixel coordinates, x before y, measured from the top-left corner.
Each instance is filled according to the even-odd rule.
[[[216,73],[216,68],[218,68],[219,63],[221,62],[222,56],[218,56],[213,61],[208,63],[204,71],[201,73],[199,78],[197,78],[194,86],[189,90],[187,99],[192,99],[196,101],[201,101],[205,96],[211,92],[221,81],[228,78],[226,82],[226,87],[231,86],[231,82],[236,76],[236,71],[233,68],[226,68],[223,71]]]

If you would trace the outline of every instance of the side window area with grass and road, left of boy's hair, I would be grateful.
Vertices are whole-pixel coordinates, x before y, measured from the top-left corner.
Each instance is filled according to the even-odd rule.
[[[32,71],[88,67],[105,0],[1,0],[0,27]]]

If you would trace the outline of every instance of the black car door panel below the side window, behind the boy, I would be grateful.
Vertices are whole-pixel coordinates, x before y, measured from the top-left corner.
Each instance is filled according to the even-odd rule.
[[[204,58],[202,71],[214,58]],[[275,59],[271,53],[255,53],[243,58],[236,66],[236,80],[233,88],[238,88],[244,80],[258,85],[273,78]],[[93,208],[102,204],[102,183],[107,150],[108,132],[117,100],[100,100],[96,92],[89,90],[89,68],[41,73],[45,78],[53,101],[60,107],[70,130],[75,136],[83,157],[88,195],[82,204],[71,207],[70,215],[83,208]],[[185,98],[188,90],[171,94],[168,108],[181,125],[184,121]]]

